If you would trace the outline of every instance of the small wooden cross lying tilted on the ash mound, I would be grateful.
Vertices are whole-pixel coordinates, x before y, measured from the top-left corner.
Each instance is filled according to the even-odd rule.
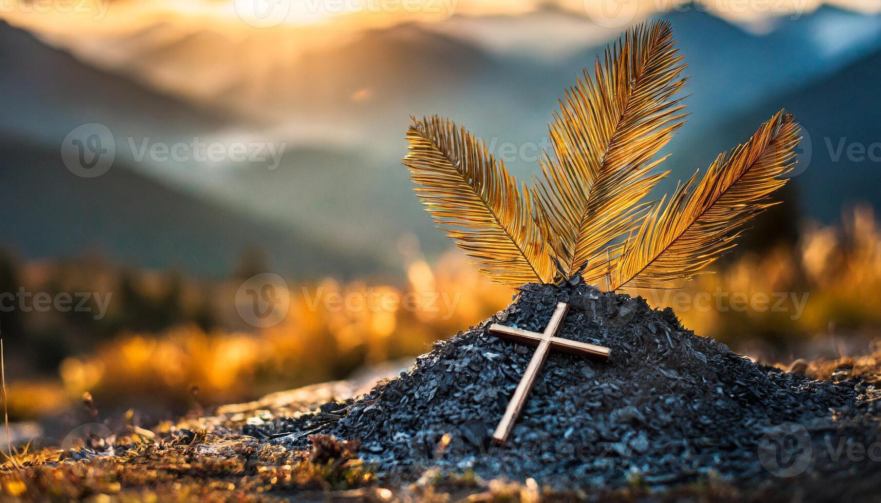
[[[551,321],[548,322],[548,326],[544,328],[544,332],[542,333],[515,329],[514,327],[506,327],[499,323],[492,323],[492,325],[490,325],[490,333],[494,336],[514,341],[515,343],[529,344],[537,347],[536,352],[532,353],[532,359],[529,360],[529,366],[526,367],[526,372],[523,373],[520,383],[517,384],[514,396],[512,396],[511,401],[507,403],[505,415],[502,416],[499,425],[496,427],[495,433],[492,433],[492,438],[497,442],[503,443],[507,440],[508,435],[511,433],[511,429],[514,427],[515,420],[520,416],[520,411],[523,409],[523,403],[526,403],[526,396],[529,395],[529,389],[532,388],[532,383],[536,381],[538,371],[544,366],[544,359],[547,358],[549,351],[555,349],[578,356],[599,359],[609,358],[611,350],[605,346],[597,346],[595,344],[580,343],[578,341],[554,337],[554,334],[557,333],[559,327],[563,324],[563,318],[566,317],[566,311],[568,310],[569,305],[565,302],[557,304],[557,308],[554,309],[554,312],[551,315]]]

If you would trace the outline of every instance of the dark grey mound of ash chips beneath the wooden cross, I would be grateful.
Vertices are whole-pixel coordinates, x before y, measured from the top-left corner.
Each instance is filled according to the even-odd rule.
[[[492,431],[534,348],[488,334],[492,322],[542,331],[570,304],[558,336],[611,347],[608,361],[552,351],[504,446]],[[366,396],[244,433],[295,448],[321,433],[360,440],[383,474],[428,466],[481,477],[613,486],[705,477],[768,477],[757,448],[769,428],[828,422],[855,383],[761,366],[684,329],[672,310],[580,280],[527,285],[506,310],[434,345]]]

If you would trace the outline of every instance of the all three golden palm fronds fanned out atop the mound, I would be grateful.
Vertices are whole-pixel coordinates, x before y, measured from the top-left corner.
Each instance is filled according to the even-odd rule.
[[[549,283],[581,272],[588,283],[667,287],[734,246],[746,221],[773,203],[798,143],[792,115],[774,115],[730,155],[694,174],[669,203],[643,199],[665,173],[655,159],[685,114],[685,78],[668,22],[641,24],[607,48],[560,100],[549,125],[554,159],[518,189],[485,145],[434,116],[407,133],[418,196],[497,283]],[[623,239],[622,239],[623,238]]]

